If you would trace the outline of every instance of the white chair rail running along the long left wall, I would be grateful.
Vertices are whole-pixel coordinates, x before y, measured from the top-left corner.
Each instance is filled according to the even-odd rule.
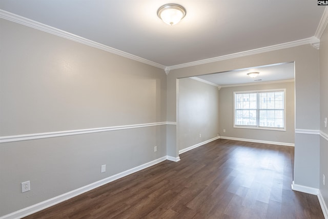
[[[161,125],[176,125],[176,122],[146,123],[146,124],[135,124],[135,125],[126,125],[126,126],[111,126],[111,127],[91,128],[91,129],[78,129],[78,130],[44,132],[44,133],[34,133],[34,134],[0,136],[0,143],[36,140],[41,138],[60,137],[60,136],[69,136],[69,135],[77,135],[77,134],[89,134],[89,133],[105,132],[105,131],[117,131],[123,129],[144,128],[144,127],[161,126]]]

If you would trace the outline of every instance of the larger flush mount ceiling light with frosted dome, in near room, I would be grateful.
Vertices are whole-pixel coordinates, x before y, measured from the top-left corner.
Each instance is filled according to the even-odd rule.
[[[157,10],[157,15],[168,25],[175,25],[186,16],[186,9],[181,5],[167,4]]]

